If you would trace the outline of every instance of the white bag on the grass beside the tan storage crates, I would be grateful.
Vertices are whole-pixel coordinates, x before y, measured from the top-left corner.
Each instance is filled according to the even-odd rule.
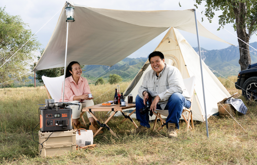
[[[80,147],[93,144],[93,131],[83,128],[76,130],[76,143]]]

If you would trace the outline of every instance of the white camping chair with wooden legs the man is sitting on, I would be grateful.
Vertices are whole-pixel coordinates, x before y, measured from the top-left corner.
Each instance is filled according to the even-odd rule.
[[[195,86],[195,76],[192,76],[192,77],[189,77],[189,78],[186,78],[186,79],[183,79],[184,81],[184,84],[185,84],[185,88],[186,90],[188,91],[189,93],[189,96],[192,96],[192,99],[191,99],[191,107],[189,109],[183,107],[183,111],[182,111],[182,117],[183,119],[185,120],[186,122],[186,129],[188,130],[189,127],[190,129],[194,129],[194,123],[193,123],[193,117],[192,117],[192,111],[191,111],[191,108],[192,108],[192,101],[193,101],[193,93],[194,93],[194,86]],[[153,112],[154,115],[156,115],[156,118],[155,118],[155,121],[154,121],[154,124],[153,124],[153,128],[152,128],[152,131],[154,131],[155,129],[155,126],[156,126],[156,122],[157,122],[157,118],[160,119],[161,121],[161,126],[157,129],[157,131],[159,131],[160,129],[163,128],[164,125],[166,125],[166,121],[162,119],[161,115],[163,116],[168,116],[169,115],[169,111],[168,110],[158,110],[156,109],[156,112]],[[189,112],[188,114],[188,118],[186,119],[184,113],[185,112]],[[192,127],[189,125],[189,122],[190,122],[190,119],[191,119],[191,125]]]

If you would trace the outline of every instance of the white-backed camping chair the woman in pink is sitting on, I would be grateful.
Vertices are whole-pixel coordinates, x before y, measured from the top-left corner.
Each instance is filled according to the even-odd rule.
[[[62,89],[62,83],[63,83],[63,79],[64,79],[64,75],[60,76],[60,77],[46,77],[46,76],[42,76],[42,80],[44,82],[44,86],[46,88],[46,93],[48,96],[48,99],[50,98],[50,95],[52,97],[52,99],[54,99],[55,102],[59,101],[59,99],[61,98],[61,89]],[[85,112],[80,113],[80,118],[82,119],[83,127],[86,127],[86,122],[83,118],[83,114]]]

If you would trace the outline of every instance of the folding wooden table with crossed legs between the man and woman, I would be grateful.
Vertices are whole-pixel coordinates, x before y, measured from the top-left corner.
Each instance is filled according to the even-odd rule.
[[[130,118],[130,115],[132,115],[135,110],[133,112],[131,112],[129,115],[125,115],[125,113],[123,112],[123,110],[125,109],[129,109],[129,108],[135,108],[136,105],[135,104],[128,104],[126,102],[126,106],[125,107],[120,107],[120,104],[116,104],[116,105],[112,105],[112,106],[101,106],[102,104],[97,104],[97,105],[93,105],[90,107],[86,107],[82,109],[82,113],[81,115],[83,115],[83,113],[85,112],[89,112],[92,117],[96,120],[96,122],[100,125],[100,128],[98,129],[98,131],[94,134],[94,137],[98,134],[98,132],[101,131],[101,129],[103,127],[107,128],[111,134],[115,137],[116,134],[112,131],[112,129],[110,129],[110,127],[107,125],[107,122],[118,112],[120,111],[121,114],[124,116],[125,119],[123,119],[120,123],[124,122],[126,119],[130,119],[130,121],[133,123],[133,125],[138,128],[138,126],[136,125],[136,123]],[[113,113],[109,116],[109,118],[104,122],[101,123],[92,112],[101,112],[101,111],[112,111]],[[118,138],[118,137],[117,137]]]

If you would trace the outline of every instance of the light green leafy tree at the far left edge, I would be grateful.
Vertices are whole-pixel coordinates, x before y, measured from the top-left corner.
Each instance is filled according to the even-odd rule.
[[[5,7],[0,7],[0,66],[4,64],[18,49],[33,36],[27,23],[19,15],[9,15]],[[34,52],[41,44],[35,37],[31,38],[10,60],[0,68],[1,87],[9,86],[13,81],[29,81],[29,66]],[[23,75],[25,74],[25,75]],[[23,76],[21,76],[23,75]],[[9,81],[21,76],[16,80]]]

